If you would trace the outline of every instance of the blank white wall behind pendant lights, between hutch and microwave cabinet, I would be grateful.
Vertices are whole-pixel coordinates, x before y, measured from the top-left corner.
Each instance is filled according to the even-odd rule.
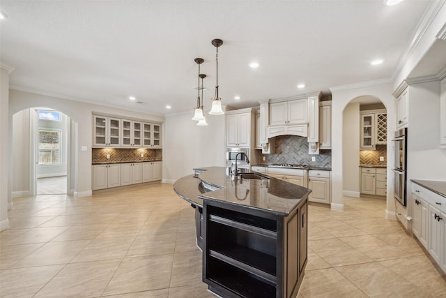
[[[164,124],[163,179],[193,174],[194,167],[224,166],[224,115],[206,113],[208,126],[192,121],[193,111],[166,117]]]

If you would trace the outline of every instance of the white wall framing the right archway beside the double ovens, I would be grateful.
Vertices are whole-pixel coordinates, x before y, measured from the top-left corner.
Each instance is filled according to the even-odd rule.
[[[360,86],[351,89],[332,89],[332,206],[334,210],[343,210],[342,203],[344,176],[344,109],[354,98],[360,96],[374,96],[379,98],[387,109],[387,177],[392,177],[391,165],[393,161],[392,137],[395,131],[396,110],[395,99],[392,96],[392,84],[378,84]],[[359,127],[359,126],[358,126]],[[387,215],[394,213],[393,183],[387,184]]]

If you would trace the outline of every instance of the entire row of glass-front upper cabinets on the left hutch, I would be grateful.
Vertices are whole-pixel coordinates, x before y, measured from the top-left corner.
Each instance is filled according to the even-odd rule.
[[[93,115],[93,147],[161,148],[161,124]]]

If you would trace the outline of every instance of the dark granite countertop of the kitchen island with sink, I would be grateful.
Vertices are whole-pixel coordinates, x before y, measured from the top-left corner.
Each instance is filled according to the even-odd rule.
[[[206,171],[201,172],[198,179],[190,175],[174,183],[174,191],[180,198],[199,207],[203,206],[203,199],[219,200],[286,216],[311,193],[308,188],[266,175],[263,179],[233,180],[226,175],[225,167],[202,170]],[[204,192],[201,181],[220,189]]]

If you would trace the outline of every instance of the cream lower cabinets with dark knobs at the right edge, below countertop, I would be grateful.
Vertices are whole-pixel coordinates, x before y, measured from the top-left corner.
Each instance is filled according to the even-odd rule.
[[[446,198],[412,184],[415,237],[446,273]]]

